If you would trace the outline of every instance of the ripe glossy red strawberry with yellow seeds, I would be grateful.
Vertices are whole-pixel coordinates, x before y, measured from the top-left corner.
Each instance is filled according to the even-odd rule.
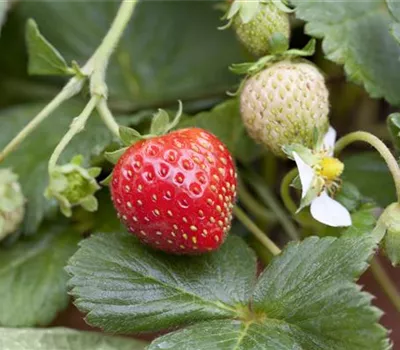
[[[199,254],[217,249],[230,229],[235,166],[217,137],[182,129],[130,146],[114,168],[111,194],[122,222],[142,242]]]

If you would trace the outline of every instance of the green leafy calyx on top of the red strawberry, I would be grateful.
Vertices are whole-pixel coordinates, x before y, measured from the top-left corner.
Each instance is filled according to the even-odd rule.
[[[125,147],[120,148],[113,152],[106,152],[104,154],[105,158],[109,162],[116,164],[118,162],[118,159],[125,153],[126,149],[129,146],[135,144],[140,140],[148,140],[153,137],[167,134],[169,131],[175,128],[179,123],[183,110],[182,102],[178,101],[178,103],[179,103],[179,108],[172,121],[170,121],[168,113],[163,109],[159,109],[157,113],[154,113],[153,119],[151,121],[150,132],[146,135],[142,135],[139,131],[133,128],[129,128],[127,126],[120,126],[119,136]],[[107,179],[103,181],[103,183],[107,184]]]

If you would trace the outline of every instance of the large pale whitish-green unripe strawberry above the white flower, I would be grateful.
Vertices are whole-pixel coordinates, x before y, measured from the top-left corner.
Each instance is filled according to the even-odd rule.
[[[281,61],[249,78],[240,109],[250,136],[281,157],[288,144],[312,148],[315,129],[323,135],[329,126],[324,77],[304,61]]]

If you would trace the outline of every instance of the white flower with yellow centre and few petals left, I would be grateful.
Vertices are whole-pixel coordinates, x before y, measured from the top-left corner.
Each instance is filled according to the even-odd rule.
[[[313,218],[325,225],[351,225],[349,211],[333,199],[340,187],[344,164],[333,156],[336,131],[331,127],[314,150],[302,145],[285,147],[285,152],[296,162],[302,187],[299,211],[310,205]]]

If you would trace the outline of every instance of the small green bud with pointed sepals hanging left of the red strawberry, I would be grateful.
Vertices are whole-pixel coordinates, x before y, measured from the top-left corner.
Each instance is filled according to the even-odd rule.
[[[72,158],[70,163],[56,166],[50,174],[50,184],[46,189],[47,198],[55,198],[61,212],[70,217],[72,207],[82,206],[87,211],[97,210],[95,192],[100,189],[96,177],[100,168],[85,169],[81,165],[81,155]]]

